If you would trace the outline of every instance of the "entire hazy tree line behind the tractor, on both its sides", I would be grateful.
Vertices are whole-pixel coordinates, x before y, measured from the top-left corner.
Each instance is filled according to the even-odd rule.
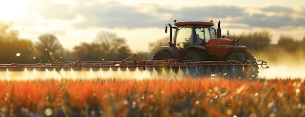
[[[244,33],[229,35],[229,38],[239,38],[240,45],[247,46],[254,53],[274,51],[303,52],[305,50],[305,36],[303,40],[296,40],[292,36],[282,35],[277,44],[271,44],[271,35],[266,32]],[[144,60],[149,60],[152,55],[161,50],[162,45],[168,45],[169,37],[161,38],[149,43],[150,52],[137,52]],[[272,52],[273,51],[273,52]],[[118,37],[115,33],[99,32],[93,42],[80,43],[73,50],[66,50],[54,34],[38,36],[38,42],[19,37],[18,30],[13,29],[13,23],[0,21],[0,63],[49,63],[73,60],[114,61],[124,60],[132,55],[126,39]]]

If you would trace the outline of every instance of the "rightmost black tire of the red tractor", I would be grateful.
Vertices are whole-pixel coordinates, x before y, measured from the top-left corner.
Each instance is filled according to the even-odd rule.
[[[245,60],[253,61],[252,64],[255,63],[256,59],[249,51],[245,51],[244,56],[245,56]],[[258,65],[253,65],[253,66],[246,65],[244,66],[244,76],[246,78],[256,79],[258,77],[257,74],[259,73],[258,69],[259,69]]]

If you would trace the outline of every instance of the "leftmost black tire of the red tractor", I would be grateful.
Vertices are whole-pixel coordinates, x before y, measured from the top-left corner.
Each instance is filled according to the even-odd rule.
[[[152,60],[167,60],[167,59],[174,59],[172,56],[172,53],[168,50],[159,50],[152,56]],[[164,69],[166,68],[166,69]],[[157,71],[158,74],[162,72],[162,70],[166,70],[166,72],[170,72],[171,67],[154,67],[154,69]],[[151,69],[150,71],[152,71]],[[172,70],[176,71],[174,67]]]

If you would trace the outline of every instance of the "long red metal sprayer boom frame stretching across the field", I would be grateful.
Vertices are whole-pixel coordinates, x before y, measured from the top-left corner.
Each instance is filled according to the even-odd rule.
[[[0,64],[0,68],[18,68],[18,67],[187,67],[187,66],[245,66],[261,65],[268,68],[267,62],[262,60],[256,61],[191,61],[180,59],[169,60],[142,60],[138,55],[133,54],[123,61],[66,61],[55,63],[38,63],[38,64]]]

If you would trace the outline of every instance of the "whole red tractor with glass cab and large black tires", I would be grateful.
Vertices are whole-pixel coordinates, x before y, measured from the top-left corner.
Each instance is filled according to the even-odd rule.
[[[181,21],[174,26],[166,25],[165,33],[170,29],[169,46],[162,46],[164,49],[157,51],[152,60],[161,59],[180,59],[194,61],[255,61],[254,56],[247,51],[247,47],[238,45],[239,39],[228,39],[221,36],[220,21],[218,28],[215,29],[212,19],[206,21]],[[174,29],[174,30],[172,30]],[[174,34],[172,34],[174,31]],[[228,31],[229,35],[229,31]],[[215,38],[216,36],[216,38]],[[177,68],[176,68],[177,69]],[[188,67],[188,74],[197,76],[198,73],[225,74],[237,78],[256,78],[258,76],[257,65],[246,66],[207,66],[207,67]],[[227,71],[224,71],[227,69]],[[229,69],[229,70],[228,70]],[[200,72],[198,72],[200,71]],[[208,71],[208,72],[207,72]],[[230,72],[233,71],[233,72]],[[226,72],[226,73],[224,73]]]

